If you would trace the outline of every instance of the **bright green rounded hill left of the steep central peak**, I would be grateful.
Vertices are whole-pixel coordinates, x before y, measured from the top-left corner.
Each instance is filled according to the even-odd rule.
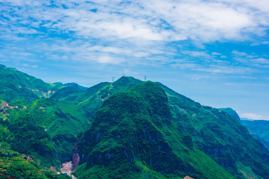
[[[38,126],[39,131],[48,135],[48,140],[53,142],[53,147],[55,146],[57,160],[59,159],[61,163],[72,160],[77,134],[89,125],[85,112],[67,100],[53,101],[40,98],[24,108],[21,106],[7,109],[5,112],[10,114],[7,116],[10,123],[19,124],[18,130],[22,130],[19,134],[25,135],[27,130],[22,127],[27,128],[29,124],[26,121],[29,121]],[[16,145],[21,149],[24,143]]]

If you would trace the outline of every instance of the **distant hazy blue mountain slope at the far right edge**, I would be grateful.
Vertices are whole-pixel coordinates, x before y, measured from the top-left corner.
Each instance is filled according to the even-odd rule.
[[[269,149],[269,121],[267,120],[241,120],[241,124],[246,126],[250,134],[261,141]]]

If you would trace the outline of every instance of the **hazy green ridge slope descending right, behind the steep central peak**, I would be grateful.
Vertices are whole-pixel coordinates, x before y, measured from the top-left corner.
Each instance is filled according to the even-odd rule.
[[[202,106],[163,85],[162,88],[168,96],[174,122],[191,134],[200,150],[238,179],[250,178],[246,169],[256,178],[268,178],[268,150],[238,119],[221,109]]]

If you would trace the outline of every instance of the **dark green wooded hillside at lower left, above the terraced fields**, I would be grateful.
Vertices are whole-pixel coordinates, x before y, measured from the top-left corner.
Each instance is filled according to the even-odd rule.
[[[20,121],[0,120],[1,150],[11,149],[30,156],[40,167],[56,167],[60,162],[54,144],[44,128],[27,118]]]

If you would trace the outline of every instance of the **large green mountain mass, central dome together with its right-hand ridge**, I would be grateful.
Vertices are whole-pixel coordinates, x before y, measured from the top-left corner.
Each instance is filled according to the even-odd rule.
[[[142,83],[104,101],[79,136],[79,179],[142,178],[144,172],[153,178],[229,178],[219,167],[237,179],[269,176],[268,150],[230,115],[233,110],[202,106],[158,85]],[[199,158],[204,154],[210,158]],[[169,160],[174,158],[182,166]],[[209,165],[212,171],[202,167]]]

